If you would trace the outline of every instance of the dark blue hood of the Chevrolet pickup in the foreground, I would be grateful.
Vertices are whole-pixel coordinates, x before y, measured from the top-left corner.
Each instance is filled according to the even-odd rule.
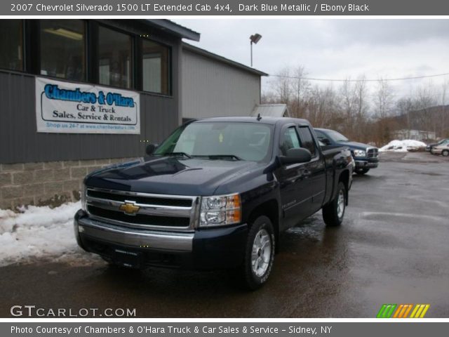
[[[85,183],[88,187],[130,192],[212,195],[220,184],[258,166],[253,161],[152,157],[95,171]]]

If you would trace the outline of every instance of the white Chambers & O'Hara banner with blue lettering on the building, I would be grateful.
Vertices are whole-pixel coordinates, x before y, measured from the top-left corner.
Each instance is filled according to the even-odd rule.
[[[36,77],[37,132],[140,134],[140,95]]]

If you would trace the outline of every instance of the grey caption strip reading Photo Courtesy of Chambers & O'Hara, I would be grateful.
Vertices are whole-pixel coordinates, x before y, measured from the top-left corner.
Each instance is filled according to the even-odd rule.
[[[0,322],[0,336],[379,337],[446,336],[448,322]]]

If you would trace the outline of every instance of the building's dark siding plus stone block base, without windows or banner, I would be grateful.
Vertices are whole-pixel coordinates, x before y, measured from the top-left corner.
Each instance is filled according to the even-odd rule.
[[[181,39],[138,20],[99,21],[170,46],[171,95],[140,92],[140,135],[37,133],[36,75],[0,70],[0,209],[76,201],[86,174],[142,157],[180,124]]]

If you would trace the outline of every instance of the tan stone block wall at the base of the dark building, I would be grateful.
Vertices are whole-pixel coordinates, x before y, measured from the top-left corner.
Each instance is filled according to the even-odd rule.
[[[0,209],[59,206],[78,201],[83,178],[109,164],[135,158],[0,164]]]

